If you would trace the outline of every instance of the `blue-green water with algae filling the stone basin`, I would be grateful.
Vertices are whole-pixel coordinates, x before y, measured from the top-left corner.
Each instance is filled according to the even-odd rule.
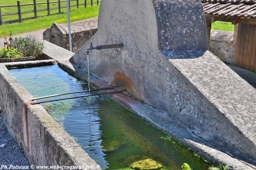
[[[53,66],[9,70],[34,97],[88,89]],[[73,94],[75,95],[75,94]],[[82,94],[78,94],[82,95]],[[209,162],[107,96],[42,104],[102,169],[208,170]]]

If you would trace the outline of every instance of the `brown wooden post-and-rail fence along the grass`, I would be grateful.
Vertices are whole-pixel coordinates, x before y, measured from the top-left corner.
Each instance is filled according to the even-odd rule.
[[[87,5],[93,6],[93,4],[99,5],[99,3],[100,3],[99,0],[97,0],[96,2],[93,2],[93,0],[84,0],[83,4],[79,4],[78,0],[70,0],[70,2],[72,2],[72,1],[76,1],[76,4],[75,5],[70,5],[70,3],[69,3],[69,6],[70,7],[76,6],[76,8],[79,8],[79,6],[84,6],[86,8]],[[47,16],[51,15],[50,14],[51,10],[58,9],[58,12],[53,13],[53,14],[61,13],[61,8],[66,8],[67,7],[67,6],[61,6],[61,2],[66,2],[66,0],[58,0],[58,1],[51,1],[51,2],[49,0],[46,0],[46,2],[39,2],[39,3],[36,3],[36,0],[33,0],[33,3],[29,3],[29,4],[20,4],[20,1],[17,1],[17,5],[0,5],[0,25],[5,24],[5,23],[22,22],[24,20],[30,20],[30,19],[42,17],[42,16],[37,15],[37,12],[40,12],[40,11],[47,11]],[[50,8],[50,4],[53,4],[53,3],[58,3],[58,7]],[[42,5],[42,4],[47,4],[47,8],[37,10],[36,9],[37,5]],[[21,11],[22,6],[34,6],[34,10],[22,12]],[[5,8],[6,7],[11,7],[11,8],[17,7],[18,12],[2,14],[2,10],[1,10],[2,7],[5,7]],[[22,18],[22,14],[28,14],[28,13],[34,13],[34,17]],[[11,15],[18,15],[19,19],[18,20],[11,20],[11,21],[3,21],[3,18],[2,18],[3,16],[11,16]],[[44,16],[46,16],[46,15],[44,15]]]

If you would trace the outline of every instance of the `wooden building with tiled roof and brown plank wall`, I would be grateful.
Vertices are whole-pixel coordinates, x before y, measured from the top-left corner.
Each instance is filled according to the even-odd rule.
[[[208,45],[215,21],[235,25],[235,65],[256,72],[256,0],[201,0],[206,16]]]

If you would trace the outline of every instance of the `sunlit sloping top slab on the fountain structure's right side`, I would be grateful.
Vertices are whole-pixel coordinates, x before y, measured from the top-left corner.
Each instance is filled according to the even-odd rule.
[[[256,145],[256,90],[253,86],[220,62],[210,51],[173,50],[162,53],[214,107]]]

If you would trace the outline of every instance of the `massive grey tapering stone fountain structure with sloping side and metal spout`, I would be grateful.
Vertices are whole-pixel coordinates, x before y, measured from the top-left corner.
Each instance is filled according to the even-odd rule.
[[[70,59],[126,88],[232,157],[256,165],[256,90],[207,51],[199,0],[102,0],[98,32]]]

